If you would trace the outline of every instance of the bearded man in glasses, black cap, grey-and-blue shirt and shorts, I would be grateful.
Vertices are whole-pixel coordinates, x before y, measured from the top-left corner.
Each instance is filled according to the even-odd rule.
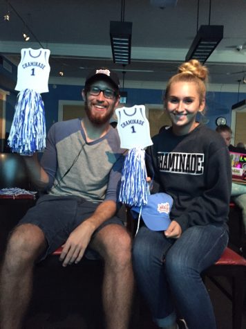
[[[109,125],[119,93],[117,75],[95,69],[82,91],[86,116],[50,128],[41,164],[37,154],[24,157],[32,181],[46,194],[10,235],[0,277],[1,329],[21,328],[34,265],[61,245],[64,267],[79,263],[84,255],[104,260],[105,328],[128,328],[131,237],[116,215],[124,150],[117,130]]]

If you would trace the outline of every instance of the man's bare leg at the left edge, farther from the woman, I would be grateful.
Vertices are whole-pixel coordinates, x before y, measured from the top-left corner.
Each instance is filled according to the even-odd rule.
[[[17,226],[10,236],[0,273],[0,328],[21,328],[32,293],[35,260],[46,249],[38,226]]]

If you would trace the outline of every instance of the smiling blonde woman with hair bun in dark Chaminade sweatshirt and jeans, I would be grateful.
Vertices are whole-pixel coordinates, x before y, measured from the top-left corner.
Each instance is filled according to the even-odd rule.
[[[207,74],[198,60],[180,66],[164,94],[172,125],[146,151],[153,193],[173,198],[167,230],[142,225],[133,241],[135,278],[158,328],[216,328],[200,274],[227,247],[231,167],[220,136],[196,122],[205,109]]]

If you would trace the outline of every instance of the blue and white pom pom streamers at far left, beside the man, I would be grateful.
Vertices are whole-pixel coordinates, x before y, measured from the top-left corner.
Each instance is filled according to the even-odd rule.
[[[44,102],[36,91],[20,91],[8,137],[12,152],[32,155],[46,146]]]

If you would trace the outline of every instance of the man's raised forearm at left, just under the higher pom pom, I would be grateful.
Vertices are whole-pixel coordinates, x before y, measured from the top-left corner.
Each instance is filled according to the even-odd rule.
[[[26,162],[28,175],[32,183],[41,190],[45,189],[48,186],[49,177],[46,171],[40,166],[37,153],[33,154],[31,157],[23,156],[23,159]]]

